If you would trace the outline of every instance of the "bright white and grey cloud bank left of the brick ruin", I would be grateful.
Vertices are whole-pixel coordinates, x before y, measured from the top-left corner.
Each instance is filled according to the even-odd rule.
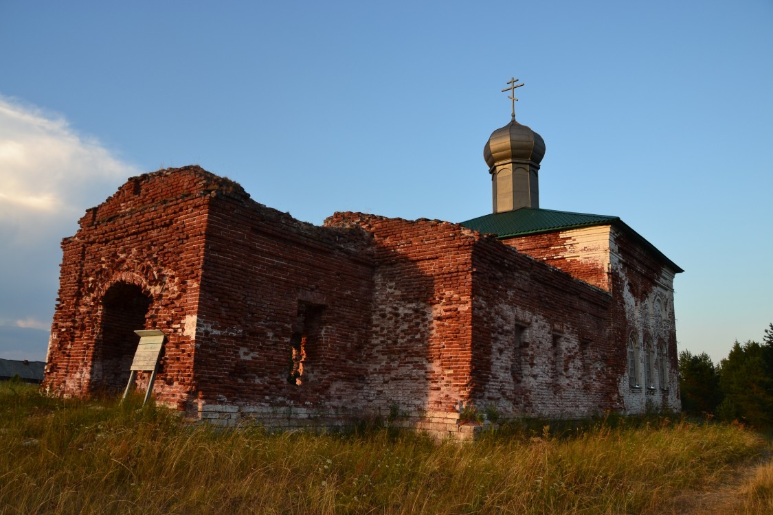
[[[61,239],[139,173],[63,117],[0,95],[0,320],[48,328]]]

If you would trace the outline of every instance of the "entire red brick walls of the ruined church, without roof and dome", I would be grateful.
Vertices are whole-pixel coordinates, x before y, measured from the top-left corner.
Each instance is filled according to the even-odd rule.
[[[160,329],[156,401],[216,424],[378,416],[463,439],[471,410],[679,408],[673,272],[612,227],[501,242],[362,213],[316,226],[192,166],[129,179],[62,248],[57,395],[119,391],[133,330]],[[628,377],[632,335],[656,347],[648,385]]]

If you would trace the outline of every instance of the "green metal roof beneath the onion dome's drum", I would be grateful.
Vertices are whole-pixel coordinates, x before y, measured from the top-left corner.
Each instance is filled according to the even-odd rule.
[[[459,225],[484,234],[495,234],[499,239],[540,232],[593,227],[594,225],[615,225],[616,228],[632,236],[642,246],[658,256],[664,263],[674,269],[676,273],[684,272],[676,263],[660,252],[656,246],[628,227],[618,216],[589,215],[587,213],[554,211],[553,209],[519,208],[515,211],[478,216],[476,219],[460,222]]]

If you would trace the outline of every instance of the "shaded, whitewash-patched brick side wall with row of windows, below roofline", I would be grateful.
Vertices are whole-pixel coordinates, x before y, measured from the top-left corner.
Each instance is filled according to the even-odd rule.
[[[478,412],[577,418],[622,408],[625,353],[608,339],[608,293],[489,236],[473,266]]]

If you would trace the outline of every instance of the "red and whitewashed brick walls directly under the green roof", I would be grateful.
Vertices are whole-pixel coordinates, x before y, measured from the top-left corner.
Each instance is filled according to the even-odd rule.
[[[673,316],[673,280],[670,269],[638,239],[612,225],[598,225],[536,235],[503,242],[534,259],[555,266],[577,279],[607,290],[612,295],[608,312],[608,339],[612,351],[608,367],[618,371],[616,389],[621,411],[650,409],[678,411],[676,324]],[[660,313],[654,312],[659,306]],[[627,349],[635,335],[638,377],[629,381]],[[650,385],[645,385],[646,344],[656,350]],[[664,361],[661,366],[660,361]],[[630,384],[634,383],[635,387]]]

